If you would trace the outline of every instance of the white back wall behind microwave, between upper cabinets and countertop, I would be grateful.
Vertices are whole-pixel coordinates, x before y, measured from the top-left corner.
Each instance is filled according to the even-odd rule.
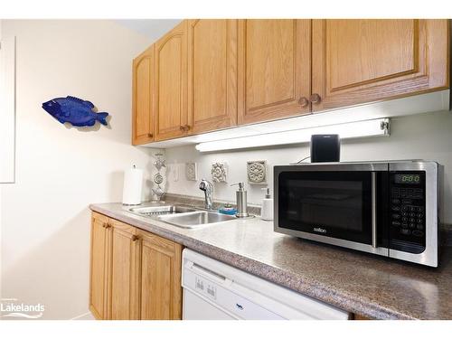
[[[444,165],[446,206],[444,222],[452,223],[452,113],[437,112],[419,114],[405,118],[391,119],[391,137],[368,137],[344,140],[341,161],[385,160],[385,159],[427,159]],[[229,166],[228,184],[215,184],[214,199],[235,200],[235,187],[229,184],[247,182],[248,160],[268,161],[268,186],[273,193],[273,165],[287,165],[309,155],[309,145],[280,146],[266,149],[245,149],[236,152],[202,154],[194,146],[166,150],[168,164],[176,164],[179,171],[177,182],[168,178],[168,192],[203,196],[198,183],[185,179],[184,163],[198,163],[198,177],[210,179],[211,165],[226,162]],[[170,172],[171,173],[171,172]],[[261,203],[263,193],[259,186],[248,185],[248,199]]]

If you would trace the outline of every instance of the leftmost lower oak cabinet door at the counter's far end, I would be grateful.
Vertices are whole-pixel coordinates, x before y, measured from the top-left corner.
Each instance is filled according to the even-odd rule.
[[[111,233],[108,218],[96,212],[91,216],[91,255],[89,310],[97,319],[108,319],[108,275]]]

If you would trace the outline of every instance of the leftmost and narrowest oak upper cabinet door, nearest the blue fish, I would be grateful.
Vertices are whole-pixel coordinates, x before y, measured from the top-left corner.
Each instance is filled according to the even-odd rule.
[[[132,144],[154,141],[155,123],[155,51],[154,45],[133,62]]]

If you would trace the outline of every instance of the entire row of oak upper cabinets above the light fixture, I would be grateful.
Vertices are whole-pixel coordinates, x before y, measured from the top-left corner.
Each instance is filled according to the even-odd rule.
[[[448,20],[184,20],[134,61],[133,143],[446,89],[449,45]]]

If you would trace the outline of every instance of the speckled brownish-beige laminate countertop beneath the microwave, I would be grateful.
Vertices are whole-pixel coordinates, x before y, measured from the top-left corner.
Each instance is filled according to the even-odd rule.
[[[272,221],[259,218],[188,230],[138,216],[120,203],[89,207],[355,314],[452,319],[452,248],[444,248],[439,268],[427,268],[279,234]]]

